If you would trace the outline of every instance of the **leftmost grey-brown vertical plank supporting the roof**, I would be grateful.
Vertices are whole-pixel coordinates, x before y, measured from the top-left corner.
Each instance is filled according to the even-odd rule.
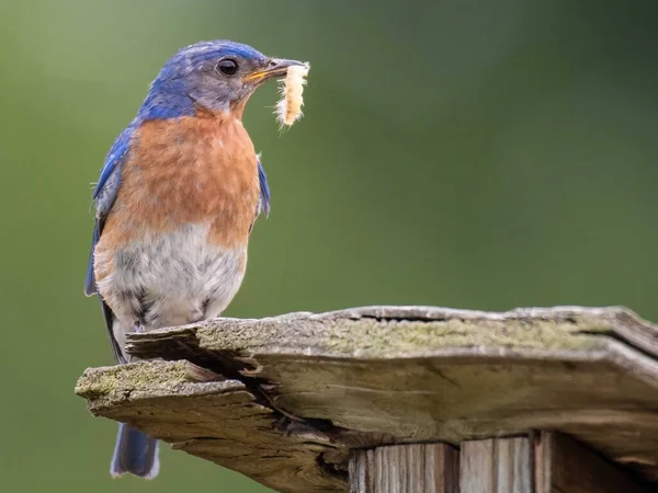
[[[458,493],[456,449],[446,444],[411,444],[354,450],[351,493]]]

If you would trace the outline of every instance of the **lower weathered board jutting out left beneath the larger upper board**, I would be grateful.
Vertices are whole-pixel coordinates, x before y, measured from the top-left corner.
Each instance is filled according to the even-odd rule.
[[[347,491],[347,473],[322,462],[325,456],[347,462],[347,449],[308,427],[280,431],[281,416],[242,382],[189,362],[89,368],[76,393],[97,416],[128,423],[276,491]]]

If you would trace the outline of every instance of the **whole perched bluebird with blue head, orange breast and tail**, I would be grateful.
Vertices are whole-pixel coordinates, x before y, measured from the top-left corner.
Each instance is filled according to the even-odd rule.
[[[84,293],[100,295],[118,364],[126,334],[219,316],[238,291],[270,191],[242,126],[249,96],[300,61],[229,41],[178,51],[105,158]],[[158,474],[158,443],[121,424],[113,477]]]

